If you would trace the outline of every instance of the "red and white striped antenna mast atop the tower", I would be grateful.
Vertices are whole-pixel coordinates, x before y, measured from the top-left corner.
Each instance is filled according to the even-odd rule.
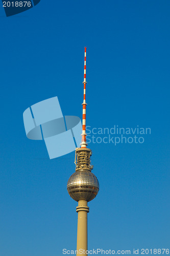
[[[86,47],[84,51],[84,98],[83,98],[83,125],[82,125],[82,142],[81,142],[81,147],[86,147],[87,142],[86,142]]]

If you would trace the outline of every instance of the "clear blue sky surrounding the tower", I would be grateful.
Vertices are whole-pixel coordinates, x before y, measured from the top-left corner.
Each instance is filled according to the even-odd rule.
[[[27,139],[22,113],[58,96],[87,124],[150,127],[141,144],[93,144],[98,197],[89,203],[88,247],[168,248],[170,2],[45,1],[1,18],[0,254],[55,256],[76,249],[77,202],[66,183],[74,152],[50,160]]]

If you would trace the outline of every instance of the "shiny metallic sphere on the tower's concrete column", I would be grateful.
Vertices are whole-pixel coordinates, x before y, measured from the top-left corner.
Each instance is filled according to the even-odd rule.
[[[93,200],[99,191],[99,181],[89,170],[77,170],[67,182],[68,194],[75,201]]]

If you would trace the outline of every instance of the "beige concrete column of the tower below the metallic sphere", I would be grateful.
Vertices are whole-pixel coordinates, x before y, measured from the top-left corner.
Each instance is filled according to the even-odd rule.
[[[78,212],[78,227],[77,227],[77,251],[87,250],[87,213],[89,212],[89,207],[87,206],[86,200],[79,200],[78,207],[76,211]],[[77,253],[77,256],[80,253]],[[83,255],[87,255],[84,253]]]

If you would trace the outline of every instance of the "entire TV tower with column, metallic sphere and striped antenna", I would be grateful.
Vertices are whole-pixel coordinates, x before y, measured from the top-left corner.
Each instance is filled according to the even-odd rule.
[[[99,191],[99,181],[91,170],[90,157],[92,152],[87,148],[86,142],[86,47],[84,57],[84,98],[83,98],[83,125],[82,125],[82,142],[80,147],[76,148],[75,164],[76,172],[72,174],[67,182],[68,194],[72,199],[78,202],[76,211],[78,212],[78,228],[77,228],[77,255],[80,250],[84,251],[83,255],[87,255],[87,213],[89,207],[87,203],[93,200]]]

